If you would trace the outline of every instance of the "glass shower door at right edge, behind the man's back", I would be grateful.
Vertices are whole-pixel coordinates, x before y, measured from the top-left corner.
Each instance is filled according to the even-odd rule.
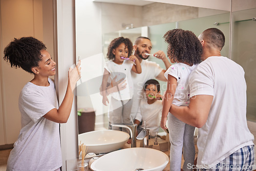
[[[253,18],[254,17],[254,18]],[[247,120],[256,122],[256,8],[233,12],[231,59],[245,71]]]

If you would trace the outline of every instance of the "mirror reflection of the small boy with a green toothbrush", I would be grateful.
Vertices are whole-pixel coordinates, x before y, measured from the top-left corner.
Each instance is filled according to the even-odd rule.
[[[150,130],[150,136],[155,137],[160,127],[160,116],[163,108],[162,101],[159,100],[162,99],[160,84],[157,80],[150,79],[146,81],[143,88],[146,99],[141,100],[134,123],[139,125],[137,128],[137,134],[139,134],[145,128],[145,121],[146,128]]]

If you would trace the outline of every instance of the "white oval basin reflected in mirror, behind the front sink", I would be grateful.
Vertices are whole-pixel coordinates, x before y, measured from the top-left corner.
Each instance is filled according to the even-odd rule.
[[[82,133],[78,135],[78,142],[84,143],[87,153],[109,153],[124,146],[130,135],[116,130],[100,130]]]

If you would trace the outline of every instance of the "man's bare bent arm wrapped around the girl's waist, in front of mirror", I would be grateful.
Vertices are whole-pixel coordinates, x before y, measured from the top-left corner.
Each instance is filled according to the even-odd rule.
[[[189,125],[202,127],[208,118],[212,99],[214,96],[196,95],[190,98],[189,106],[172,104],[169,112]]]

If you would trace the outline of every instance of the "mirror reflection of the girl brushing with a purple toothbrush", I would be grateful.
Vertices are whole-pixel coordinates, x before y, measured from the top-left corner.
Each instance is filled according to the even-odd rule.
[[[106,86],[108,82],[113,87],[113,80],[119,81],[124,79],[126,87],[123,90],[111,93],[109,119],[110,123],[130,123],[130,114],[133,97],[133,82],[131,70],[135,73],[141,73],[141,66],[138,58],[132,55],[133,44],[129,38],[118,37],[111,41],[106,62],[104,75],[102,79],[102,103],[108,105],[106,97]],[[114,127],[113,127],[114,129]]]

